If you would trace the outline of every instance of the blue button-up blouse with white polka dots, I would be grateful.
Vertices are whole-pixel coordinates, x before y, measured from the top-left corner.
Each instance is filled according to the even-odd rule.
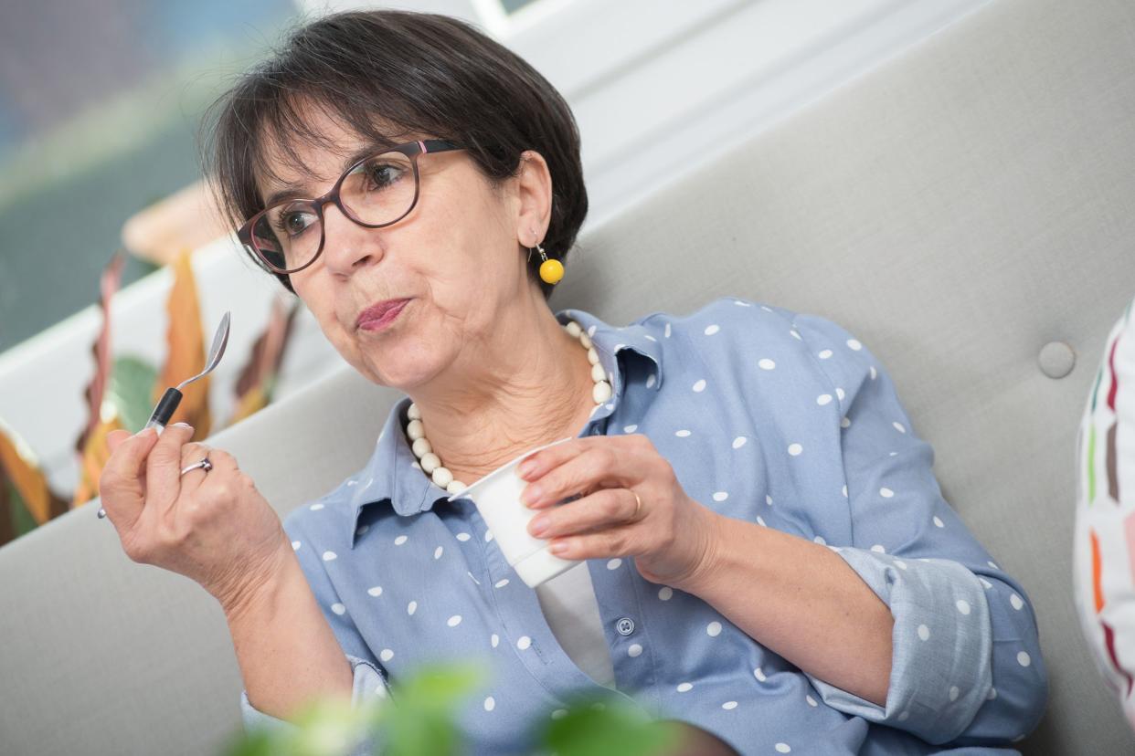
[[[580,436],[646,434],[692,499],[826,545],[894,618],[878,706],[647,581],[633,559],[588,560],[612,695],[746,755],[1016,753],[1008,744],[1036,725],[1048,694],[1032,604],[942,498],[930,444],[865,345],[823,317],[734,298],[625,328],[579,309],[557,318],[586,329],[612,377]],[[365,467],[285,530],[356,702],[421,663],[477,659],[491,676],[461,710],[469,753],[532,753],[537,720],[611,691],[558,645],[472,503],[446,502],[417,466],[409,405],[392,409]],[[291,727],[246,694],[242,710],[246,724]]]

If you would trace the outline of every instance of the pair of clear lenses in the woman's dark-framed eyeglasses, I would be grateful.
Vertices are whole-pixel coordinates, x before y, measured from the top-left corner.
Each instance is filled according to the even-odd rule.
[[[414,167],[401,152],[368,158],[343,178],[339,202],[352,220],[368,226],[393,223],[410,211],[417,192]],[[288,199],[272,205],[252,228],[252,243],[264,260],[283,270],[303,267],[319,254],[323,238],[314,202]]]

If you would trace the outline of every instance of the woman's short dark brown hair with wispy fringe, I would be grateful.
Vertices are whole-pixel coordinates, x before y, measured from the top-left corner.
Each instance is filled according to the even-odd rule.
[[[436,14],[368,10],[328,15],[288,34],[205,117],[207,172],[234,226],[262,210],[257,179],[271,176],[270,150],[303,169],[297,144],[337,147],[305,122],[303,108],[311,107],[378,148],[398,144],[392,126],[463,143],[494,186],[518,173],[523,151],[538,152],[553,188],[543,246],[563,262],[575,243],[587,189],[571,109],[535,68],[472,25]],[[541,262],[531,255],[529,275],[547,299],[552,286],[537,275]],[[295,292],[287,275],[272,274]]]

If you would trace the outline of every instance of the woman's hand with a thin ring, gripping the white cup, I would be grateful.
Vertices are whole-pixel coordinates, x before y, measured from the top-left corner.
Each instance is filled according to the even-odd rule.
[[[686,494],[642,434],[565,441],[530,455],[518,474],[529,481],[521,501],[548,510],[529,533],[562,559],[633,557],[644,578],[679,588],[709,569],[720,516]]]

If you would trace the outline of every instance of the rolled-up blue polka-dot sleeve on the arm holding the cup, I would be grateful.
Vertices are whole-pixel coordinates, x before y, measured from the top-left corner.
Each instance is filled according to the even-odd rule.
[[[894,618],[886,705],[812,676],[830,706],[932,744],[993,745],[1036,727],[1048,698],[1024,589],[942,498],[919,439],[872,352],[838,324],[793,328],[839,397],[852,543],[833,550]]]

